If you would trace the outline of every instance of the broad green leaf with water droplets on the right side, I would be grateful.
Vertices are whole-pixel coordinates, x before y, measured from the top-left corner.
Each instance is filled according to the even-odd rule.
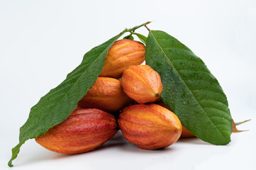
[[[150,31],[145,57],[162,79],[162,101],[182,125],[201,140],[228,144],[232,132],[228,101],[204,62],[160,30]]]

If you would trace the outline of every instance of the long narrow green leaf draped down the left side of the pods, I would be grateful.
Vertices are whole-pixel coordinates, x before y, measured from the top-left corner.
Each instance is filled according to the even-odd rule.
[[[31,108],[28,120],[20,129],[19,144],[12,149],[9,166],[13,166],[12,161],[26,140],[43,135],[54,125],[62,123],[74,111],[77,102],[87,94],[101,73],[109,47],[123,33],[125,32],[87,52],[82,63],[69,73],[59,86],[50,90]]]

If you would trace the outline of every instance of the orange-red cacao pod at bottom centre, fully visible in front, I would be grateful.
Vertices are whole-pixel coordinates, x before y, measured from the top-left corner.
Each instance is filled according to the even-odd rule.
[[[118,125],[126,140],[141,149],[168,147],[182,133],[179,118],[168,109],[153,103],[124,108]]]

